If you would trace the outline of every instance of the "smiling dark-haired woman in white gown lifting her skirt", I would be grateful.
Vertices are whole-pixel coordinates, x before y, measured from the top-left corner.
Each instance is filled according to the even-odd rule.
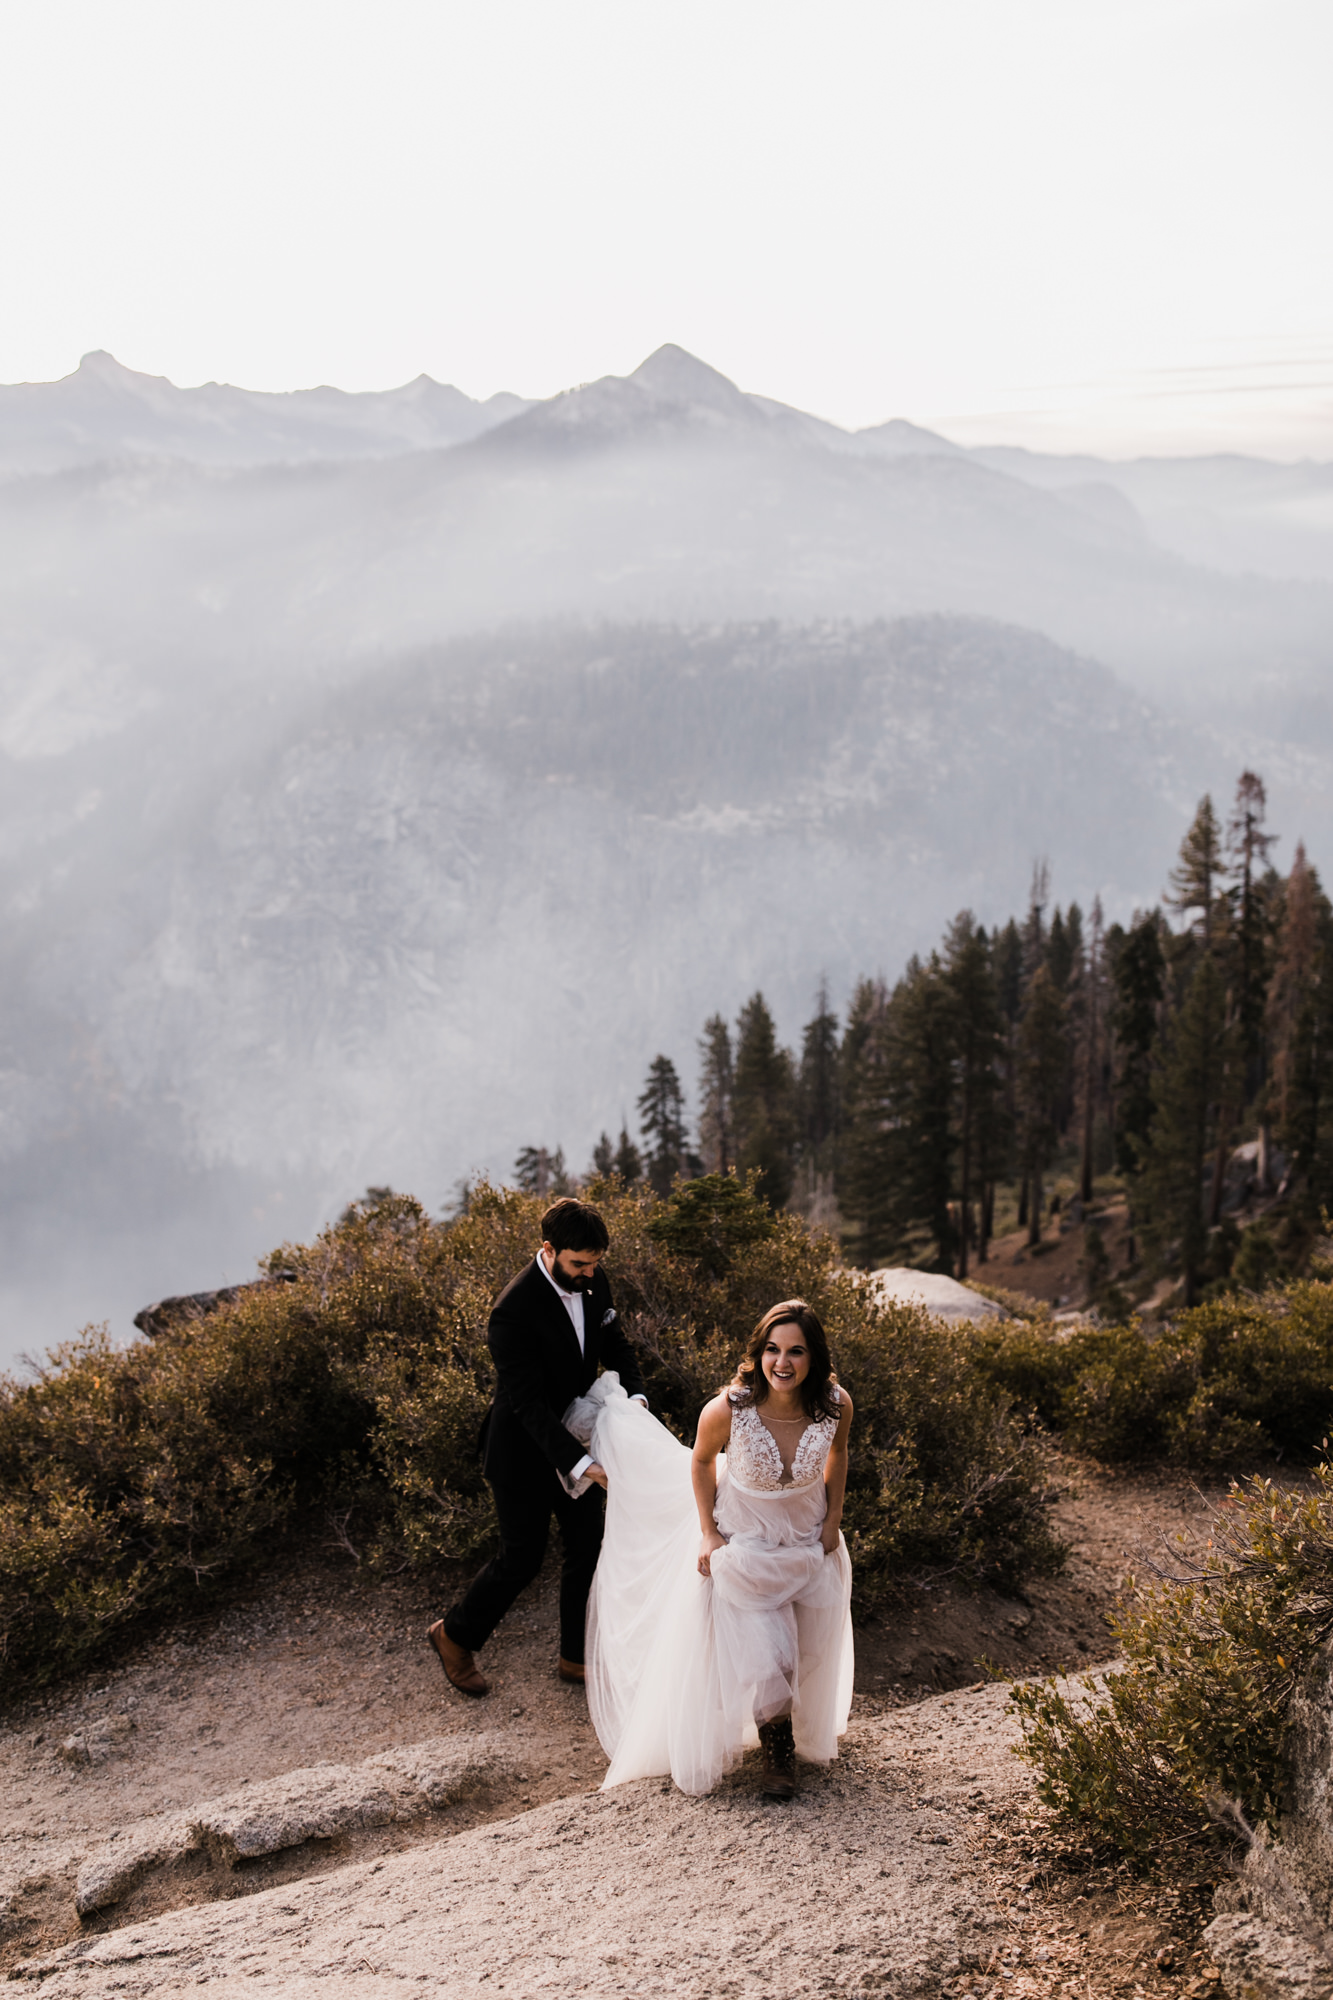
[[[799,1298],[763,1316],[693,1454],[614,1374],[566,1412],[606,1472],[586,1650],[604,1784],[671,1772],[709,1792],[759,1740],[765,1792],[791,1798],[797,1754],[837,1756],[853,1692],[851,1416]]]

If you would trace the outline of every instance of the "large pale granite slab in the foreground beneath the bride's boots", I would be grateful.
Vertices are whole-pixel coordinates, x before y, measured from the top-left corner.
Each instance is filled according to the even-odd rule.
[[[977,1722],[995,1722],[997,1756],[1013,1762],[1003,1690],[975,1702]],[[925,1752],[943,1716],[931,1730],[913,1720]],[[897,1762],[905,1742],[893,1738]],[[987,1764],[989,1740],[979,1756],[969,1768]],[[86,1936],[16,1976],[40,1980],[44,2000],[174,2000],[200,1982],[282,2000],[482,2000],[500,1988],[761,2000],[807,1986],[925,2000],[995,1960],[999,1922],[961,1802],[927,1804],[879,1772],[835,1766],[807,1772],[785,1806],[751,1782],[709,1798],[644,1780],[552,1800],[432,1846]]]

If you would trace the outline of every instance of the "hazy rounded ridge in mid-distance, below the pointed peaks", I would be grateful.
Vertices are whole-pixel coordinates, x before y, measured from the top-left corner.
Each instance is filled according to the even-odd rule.
[[[1121,914],[1227,770],[943,618],[506,628],[158,690],[112,742],[2,764],[0,1358],[244,1278],[366,1182],[586,1160],[644,1044],[757,986],[787,1038],[821,970],[897,974],[1033,854]]]

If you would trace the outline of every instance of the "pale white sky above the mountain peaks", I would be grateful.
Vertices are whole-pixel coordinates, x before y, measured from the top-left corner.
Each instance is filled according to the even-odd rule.
[[[1333,0],[0,0],[0,380],[1333,458]]]

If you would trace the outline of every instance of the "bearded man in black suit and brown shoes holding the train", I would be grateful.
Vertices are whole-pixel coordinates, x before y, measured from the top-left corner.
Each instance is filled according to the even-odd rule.
[[[542,1216],[540,1250],[490,1312],[486,1344],[496,1384],[482,1432],[482,1472],[494,1494],[500,1554],[426,1632],[460,1694],[490,1692],[472,1654],[540,1570],[552,1514],[564,1546],[558,1672],[560,1680],[584,1678],[582,1622],[602,1546],[606,1474],[560,1414],[574,1396],[586,1396],[598,1368],[616,1368],[624,1390],[646,1402],[600,1270],[608,1242],[598,1212],[566,1196]],[[558,1474],[572,1484],[584,1472],[592,1486],[572,1500]]]

